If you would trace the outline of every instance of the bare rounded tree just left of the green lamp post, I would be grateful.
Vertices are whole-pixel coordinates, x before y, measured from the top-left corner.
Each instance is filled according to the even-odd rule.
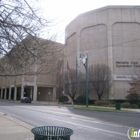
[[[76,70],[71,69],[70,71],[65,73],[65,83],[64,83],[64,89],[65,93],[69,95],[74,101],[75,95],[78,92],[78,80],[81,77],[81,73],[77,74]]]

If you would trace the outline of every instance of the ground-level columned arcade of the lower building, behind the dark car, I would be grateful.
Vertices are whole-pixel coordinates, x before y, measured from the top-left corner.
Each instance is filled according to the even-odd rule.
[[[57,75],[1,77],[0,95],[2,99],[20,100],[31,97],[33,101],[55,101]]]

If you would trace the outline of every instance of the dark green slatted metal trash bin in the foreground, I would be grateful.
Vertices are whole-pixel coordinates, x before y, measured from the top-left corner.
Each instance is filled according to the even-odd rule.
[[[70,140],[73,130],[58,126],[41,126],[31,130],[34,140]]]

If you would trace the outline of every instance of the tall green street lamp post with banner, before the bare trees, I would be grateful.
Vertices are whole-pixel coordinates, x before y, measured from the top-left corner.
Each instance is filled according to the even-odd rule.
[[[88,107],[88,54],[80,53],[79,59],[83,61],[86,70],[86,107]]]

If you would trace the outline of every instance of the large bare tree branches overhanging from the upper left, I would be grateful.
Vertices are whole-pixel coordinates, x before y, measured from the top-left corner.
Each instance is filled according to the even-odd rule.
[[[43,30],[48,33],[50,24],[26,0],[0,1],[0,76],[46,74],[54,69],[62,44],[54,42],[55,35],[38,38]]]

